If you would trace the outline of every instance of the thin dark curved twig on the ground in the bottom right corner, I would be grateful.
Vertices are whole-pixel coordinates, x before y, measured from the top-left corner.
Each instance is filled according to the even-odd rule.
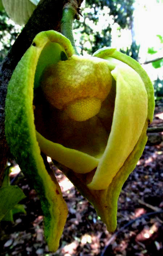
[[[117,230],[109,239],[108,241],[108,244],[105,246],[103,252],[101,253],[100,256],[105,256],[105,252],[107,250],[107,248],[109,247],[109,245],[112,243],[112,241],[114,241],[117,237],[117,235],[119,233],[121,233],[123,231],[123,229],[125,229],[126,227],[130,226],[131,224],[133,224],[135,221],[139,220],[139,219],[142,219],[142,218],[146,218],[146,217],[149,217],[151,215],[156,215],[156,214],[161,214],[163,213],[163,210],[160,210],[160,211],[155,211],[155,212],[149,212],[147,214],[143,214],[141,215],[140,217],[138,218],[135,218],[134,220],[131,220],[130,222],[128,222],[127,224],[125,224],[123,227],[121,227],[119,230]]]

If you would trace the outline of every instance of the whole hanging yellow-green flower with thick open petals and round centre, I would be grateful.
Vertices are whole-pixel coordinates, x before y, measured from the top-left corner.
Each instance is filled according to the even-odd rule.
[[[5,129],[12,154],[40,196],[51,250],[58,246],[67,211],[40,150],[113,232],[118,196],[142,155],[153,111],[151,81],[129,56],[111,48],[77,56],[56,31],[34,38],[9,83]]]

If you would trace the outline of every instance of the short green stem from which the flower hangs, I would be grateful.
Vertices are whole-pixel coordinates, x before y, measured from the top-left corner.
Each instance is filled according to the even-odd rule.
[[[66,36],[74,47],[75,53],[79,55],[74,41],[74,36],[72,33],[72,23],[75,19],[76,11],[74,8],[69,8],[68,6],[63,9],[62,20],[60,25],[60,32]]]

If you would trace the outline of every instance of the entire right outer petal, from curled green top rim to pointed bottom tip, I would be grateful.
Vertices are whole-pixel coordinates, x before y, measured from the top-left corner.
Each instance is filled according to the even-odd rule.
[[[142,78],[148,95],[148,114],[142,134],[136,146],[134,147],[134,150],[126,159],[120,170],[117,172],[116,176],[113,178],[108,188],[106,190],[93,191],[86,189],[87,184],[85,184],[85,189],[83,189],[80,185],[78,177],[72,180],[72,182],[79,189],[79,191],[93,204],[97,211],[97,214],[101,217],[101,220],[103,220],[103,222],[107,225],[108,231],[113,232],[116,229],[117,225],[117,201],[121,192],[121,188],[125,180],[128,178],[129,174],[134,170],[147,142],[146,130],[148,123],[152,121],[154,113],[154,89],[150,78],[147,76],[145,70],[143,70],[143,68],[137,61],[133,60],[129,56],[117,52],[116,49],[110,48],[100,49],[95,52],[93,56],[104,59],[115,58],[128,64],[131,68],[137,71],[137,73]]]

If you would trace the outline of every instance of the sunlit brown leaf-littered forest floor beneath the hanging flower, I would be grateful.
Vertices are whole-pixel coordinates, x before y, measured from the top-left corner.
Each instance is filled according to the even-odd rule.
[[[151,126],[163,126],[163,102],[156,103]],[[21,203],[27,214],[15,214],[14,223],[1,222],[1,256],[163,255],[163,141],[146,145],[135,170],[125,182],[118,200],[118,223],[113,234],[106,230],[91,204],[58,169],[56,176],[69,210],[57,252],[49,252],[44,240],[38,197],[28,180],[21,179],[18,186],[26,195]]]

